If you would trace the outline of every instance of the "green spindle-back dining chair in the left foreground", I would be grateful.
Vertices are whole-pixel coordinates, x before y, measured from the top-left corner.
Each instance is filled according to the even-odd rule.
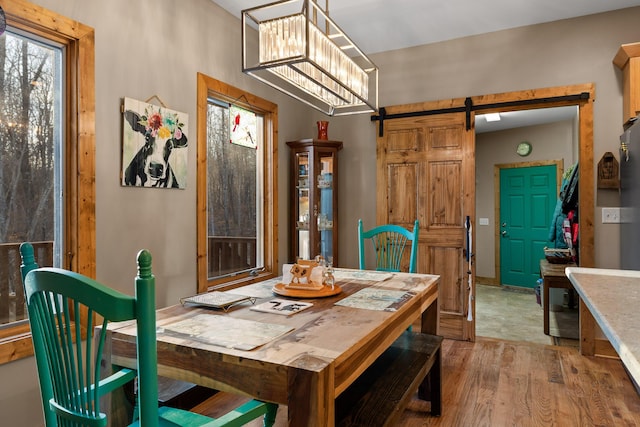
[[[137,256],[134,297],[72,271],[38,268],[30,243],[20,246],[20,254],[47,427],[105,426],[101,396],[134,378],[137,395],[132,426],[241,426],[261,416],[265,426],[273,425],[277,405],[257,400],[215,420],[185,410],[158,408],[155,277],[148,251]],[[99,337],[92,340],[95,318],[103,320],[102,327],[94,331]],[[107,324],[124,320],[136,321],[137,369],[113,366],[114,372],[101,379]]]

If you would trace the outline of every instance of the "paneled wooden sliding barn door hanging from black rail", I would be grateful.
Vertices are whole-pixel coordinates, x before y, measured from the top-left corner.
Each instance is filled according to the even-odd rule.
[[[377,139],[377,222],[411,229],[420,221],[418,272],[440,275],[438,333],[470,341],[475,269],[465,220],[475,218],[474,144],[464,113],[385,120]]]

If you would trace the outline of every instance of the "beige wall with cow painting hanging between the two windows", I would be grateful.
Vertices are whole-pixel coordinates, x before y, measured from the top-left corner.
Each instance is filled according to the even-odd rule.
[[[10,0],[9,0],[10,1]],[[289,153],[283,141],[313,136],[309,108],[241,72],[240,21],[210,0],[35,0],[95,29],[98,280],[133,292],[135,257],[153,255],[158,306],[196,291],[196,73],[278,104],[279,259],[287,257]],[[120,185],[123,97],[159,96],[189,115],[185,190]],[[32,358],[0,366],[2,425],[42,423]]]

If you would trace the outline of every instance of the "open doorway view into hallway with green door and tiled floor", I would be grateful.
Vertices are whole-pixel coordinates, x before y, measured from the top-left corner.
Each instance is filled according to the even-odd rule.
[[[476,134],[477,283],[493,286],[493,289],[482,286],[477,289],[478,336],[513,339],[514,334],[521,333],[523,341],[529,341],[535,336],[544,339],[542,308],[536,302],[535,287],[539,279],[539,262],[544,257],[543,248],[550,246],[550,221],[558,198],[562,174],[565,167],[577,161],[577,114],[577,107],[572,107],[571,116],[557,114],[560,120],[556,122],[533,123],[529,126]],[[522,141],[528,141],[532,147],[526,156],[517,152],[517,147]],[[483,163],[488,164],[483,166]],[[523,171],[528,173],[523,175]],[[505,180],[515,182],[521,188],[505,194]],[[540,187],[534,193],[532,180],[535,181],[535,186]],[[524,181],[527,181],[526,185],[522,185]],[[486,186],[483,185],[485,183]],[[505,198],[515,200],[508,204],[515,212],[504,212]],[[535,198],[536,202],[527,198]],[[534,214],[537,215],[537,219],[532,218]],[[485,224],[489,223],[487,226],[482,225],[483,217],[489,219],[485,221]],[[535,227],[531,227],[531,223],[534,223]],[[527,232],[534,235],[526,235]],[[536,251],[537,255],[534,253]],[[502,308],[495,313],[496,316],[486,316],[487,308],[483,305],[486,294],[495,294],[494,290],[499,292],[496,295],[500,295],[501,298],[491,300],[492,309]],[[516,314],[512,305],[514,298],[521,299],[524,307],[517,311],[520,315],[510,318],[509,316]],[[526,316],[525,313],[531,315]],[[502,319],[501,327],[494,325],[495,318]],[[523,325],[526,322],[530,324]],[[517,324],[519,327],[510,328],[505,324]],[[496,326],[495,330],[491,329],[492,325]],[[488,330],[492,333],[485,335]],[[505,335],[507,330],[509,333]],[[534,335],[532,331],[537,331],[538,334]]]

